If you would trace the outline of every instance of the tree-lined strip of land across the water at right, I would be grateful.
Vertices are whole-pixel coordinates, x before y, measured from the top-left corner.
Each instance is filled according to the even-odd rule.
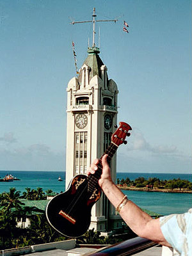
[[[138,177],[135,180],[117,179],[118,188],[124,190],[164,192],[164,193],[192,193],[192,182],[189,180],[172,179],[160,180],[158,178]]]

